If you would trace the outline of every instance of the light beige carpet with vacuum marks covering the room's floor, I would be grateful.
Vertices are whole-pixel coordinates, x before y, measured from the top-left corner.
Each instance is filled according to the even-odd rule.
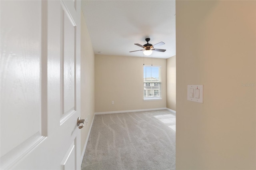
[[[95,115],[82,170],[175,170],[176,116],[168,110]]]

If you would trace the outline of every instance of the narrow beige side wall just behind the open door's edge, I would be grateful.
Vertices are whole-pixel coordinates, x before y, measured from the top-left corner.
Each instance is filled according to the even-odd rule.
[[[81,154],[94,116],[94,51],[84,15],[81,12],[81,118],[88,123],[81,129]]]

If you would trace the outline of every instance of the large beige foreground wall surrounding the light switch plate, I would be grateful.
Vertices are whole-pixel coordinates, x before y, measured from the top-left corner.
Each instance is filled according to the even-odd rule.
[[[255,22],[256,1],[176,1],[177,169],[256,169]]]

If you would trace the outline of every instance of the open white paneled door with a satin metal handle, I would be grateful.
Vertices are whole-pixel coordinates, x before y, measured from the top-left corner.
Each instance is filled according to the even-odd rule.
[[[0,28],[0,168],[80,169],[80,1],[1,0]]]

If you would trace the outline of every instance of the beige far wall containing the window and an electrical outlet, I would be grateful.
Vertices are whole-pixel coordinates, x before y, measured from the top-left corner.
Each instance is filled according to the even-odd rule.
[[[151,65],[151,58],[144,61]],[[162,68],[162,100],[144,101],[143,57],[95,55],[95,112],[166,107],[166,59],[152,63]]]

